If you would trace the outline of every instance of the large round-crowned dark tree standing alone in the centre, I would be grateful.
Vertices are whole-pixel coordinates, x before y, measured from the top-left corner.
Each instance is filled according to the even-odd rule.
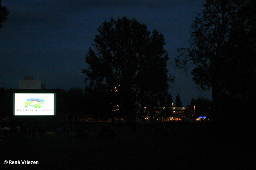
[[[169,81],[164,36],[135,19],[113,18],[98,28],[86,54],[89,68],[83,69],[86,90],[110,91],[118,95],[129,121],[134,121],[143,100],[155,101],[168,90]]]

